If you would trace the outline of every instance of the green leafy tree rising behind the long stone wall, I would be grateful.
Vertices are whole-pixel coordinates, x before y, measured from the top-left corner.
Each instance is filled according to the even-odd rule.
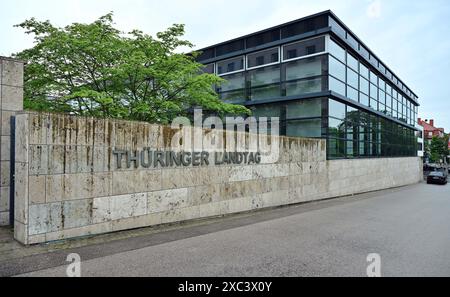
[[[16,55],[25,69],[25,108],[74,115],[168,124],[194,107],[218,115],[250,111],[220,101],[212,86],[219,77],[202,72],[198,53],[182,39],[183,25],[156,38],[114,28],[112,13],[91,24],[64,28],[32,18],[17,25],[34,35],[35,46]]]

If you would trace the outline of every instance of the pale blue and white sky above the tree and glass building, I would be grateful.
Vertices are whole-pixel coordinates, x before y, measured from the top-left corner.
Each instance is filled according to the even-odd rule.
[[[117,28],[149,34],[186,25],[197,49],[331,9],[420,98],[419,117],[450,132],[448,0],[0,0],[0,56],[33,46],[15,24],[65,26],[114,12]]]

